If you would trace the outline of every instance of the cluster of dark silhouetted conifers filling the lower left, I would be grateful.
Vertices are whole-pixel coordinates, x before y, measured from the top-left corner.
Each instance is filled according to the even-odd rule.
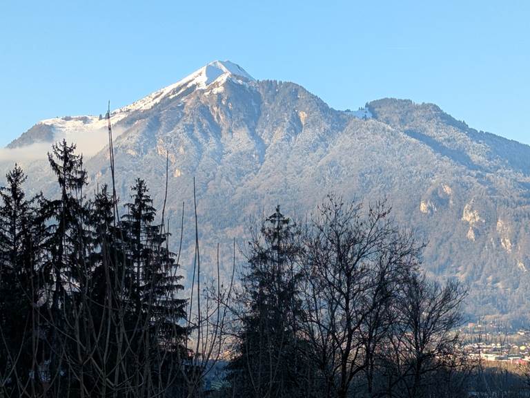
[[[186,300],[169,234],[137,180],[126,214],[65,140],[48,153],[61,195],[0,189],[0,396],[153,397],[181,383]]]

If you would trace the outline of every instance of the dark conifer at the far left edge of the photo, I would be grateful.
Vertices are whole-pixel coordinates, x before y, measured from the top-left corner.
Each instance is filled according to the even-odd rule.
[[[17,164],[6,180],[7,187],[0,188],[0,377],[14,368],[19,381],[27,382],[40,346],[33,315],[41,287],[43,226],[35,218],[35,198],[26,200],[26,175]],[[13,396],[20,395],[14,383],[11,387]]]

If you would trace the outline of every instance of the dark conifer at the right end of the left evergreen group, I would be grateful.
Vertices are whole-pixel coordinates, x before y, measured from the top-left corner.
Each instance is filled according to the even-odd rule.
[[[131,306],[128,325],[133,352],[139,363],[159,368],[160,359],[175,364],[182,354],[185,337],[179,321],[185,318],[186,300],[178,299],[183,290],[181,276],[175,271],[175,255],[168,249],[168,234],[164,226],[155,223],[156,210],[144,180],[137,179],[131,187],[132,202],[125,205],[127,213],[121,221],[124,231],[130,283],[127,295]],[[160,355],[166,350],[165,355]],[[174,357],[176,355],[177,357]],[[171,377],[171,375],[157,375]]]

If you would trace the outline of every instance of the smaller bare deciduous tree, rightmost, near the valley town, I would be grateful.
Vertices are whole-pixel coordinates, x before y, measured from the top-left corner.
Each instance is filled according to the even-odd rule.
[[[457,332],[462,323],[462,285],[429,281],[414,274],[397,301],[399,317],[389,334],[389,386],[404,397],[424,397],[429,377],[443,370],[464,369],[464,352]],[[457,358],[459,358],[457,360]]]

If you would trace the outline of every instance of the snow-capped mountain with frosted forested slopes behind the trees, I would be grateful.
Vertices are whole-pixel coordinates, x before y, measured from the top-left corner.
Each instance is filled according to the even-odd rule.
[[[365,202],[385,196],[395,219],[426,240],[426,271],[469,283],[469,314],[529,319],[530,146],[471,129],[434,104],[386,98],[337,111],[302,86],[257,81],[229,61],[112,111],[110,120],[121,202],[139,176],[161,207],[167,153],[166,214],[178,236],[186,202],[184,233],[192,236],[195,177],[205,267],[213,269],[219,242],[228,270],[232,238],[244,247],[249,220],[277,203],[304,216],[331,191]],[[44,120],[8,148],[45,152],[63,137],[88,142],[92,192],[109,181],[106,123]],[[19,163],[30,189],[54,194],[45,158]],[[0,160],[1,171],[11,166]],[[193,260],[189,243],[184,272]]]

